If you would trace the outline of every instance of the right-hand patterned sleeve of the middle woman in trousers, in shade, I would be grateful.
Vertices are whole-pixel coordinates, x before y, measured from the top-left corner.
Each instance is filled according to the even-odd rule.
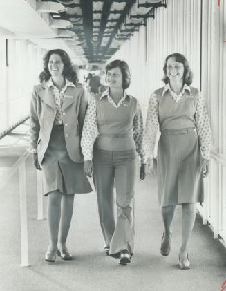
[[[145,152],[143,148],[144,124],[140,104],[138,103],[137,113],[133,119],[133,139],[135,141],[136,150],[140,156],[140,162],[146,162]]]

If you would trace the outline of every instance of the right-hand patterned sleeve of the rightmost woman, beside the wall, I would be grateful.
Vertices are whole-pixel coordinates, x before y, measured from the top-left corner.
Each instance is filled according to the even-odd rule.
[[[211,129],[207,109],[205,108],[205,102],[200,92],[198,92],[198,104],[196,108],[195,120],[203,158],[209,160],[211,149]]]

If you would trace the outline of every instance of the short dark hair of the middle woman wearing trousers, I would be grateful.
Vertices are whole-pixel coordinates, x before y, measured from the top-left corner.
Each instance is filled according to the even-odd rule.
[[[120,68],[122,73],[122,88],[123,89],[129,88],[131,76],[128,64],[125,61],[121,61],[120,59],[115,59],[115,61],[106,65],[105,67],[106,73],[113,68]]]

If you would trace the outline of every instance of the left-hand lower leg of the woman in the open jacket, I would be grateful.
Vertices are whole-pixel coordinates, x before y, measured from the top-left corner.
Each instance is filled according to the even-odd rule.
[[[50,232],[50,245],[48,251],[57,250],[59,220],[61,216],[62,194],[59,191],[53,191],[48,194],[48,228]]]

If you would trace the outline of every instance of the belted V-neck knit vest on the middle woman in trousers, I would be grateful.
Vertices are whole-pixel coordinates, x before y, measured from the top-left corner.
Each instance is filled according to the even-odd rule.
[[[133,119],[138,101],[134,97],[126,97],[120,107],[115,108],[106,96],[100,100],[100,95],[97,95],[95,102],[99,135],[94,147],[106,151],[135,149]]]

